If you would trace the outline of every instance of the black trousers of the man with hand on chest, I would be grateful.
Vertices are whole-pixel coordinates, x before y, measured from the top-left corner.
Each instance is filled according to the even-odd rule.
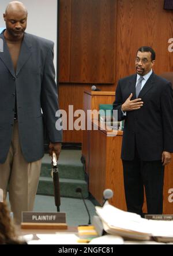
[[[162,214],[164,166],[161,160],[141,161],[136,153],[133,161],[122,162],[127,211],[144,216],[145,187],[148,214]]]

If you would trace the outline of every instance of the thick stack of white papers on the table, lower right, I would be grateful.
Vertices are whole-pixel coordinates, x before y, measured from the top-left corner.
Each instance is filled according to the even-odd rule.
[[[111,235],[126,239],[173,241],[173,221],[146,220],[135,213],[128,213],[109,204],[96,206],[103,228]]]

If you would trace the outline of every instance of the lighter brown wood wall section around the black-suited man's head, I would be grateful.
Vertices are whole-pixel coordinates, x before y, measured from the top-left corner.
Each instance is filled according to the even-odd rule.
[[[116,81],[135,72],[134,59],[140,46],[156,51],[154,71],[159,75],[173,71],[173,11],[164,10],[164,0],[117,0]]]

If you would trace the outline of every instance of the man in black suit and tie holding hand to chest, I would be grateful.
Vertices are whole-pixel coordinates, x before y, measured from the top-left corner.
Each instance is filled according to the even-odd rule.
[[[140,214],[144,187],[148,214],[163,212],[164,166],[173,152],[173,92],[171,83],[152,71],[155,51],[141,47],[136,75],[120,79],[114,110],[125,120],[122,163],[128,212]]]

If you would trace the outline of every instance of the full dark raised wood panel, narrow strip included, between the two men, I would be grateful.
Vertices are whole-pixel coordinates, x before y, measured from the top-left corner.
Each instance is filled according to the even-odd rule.
[[[116,1],[60,0],[59,8],[59,82],[115,83]]]

